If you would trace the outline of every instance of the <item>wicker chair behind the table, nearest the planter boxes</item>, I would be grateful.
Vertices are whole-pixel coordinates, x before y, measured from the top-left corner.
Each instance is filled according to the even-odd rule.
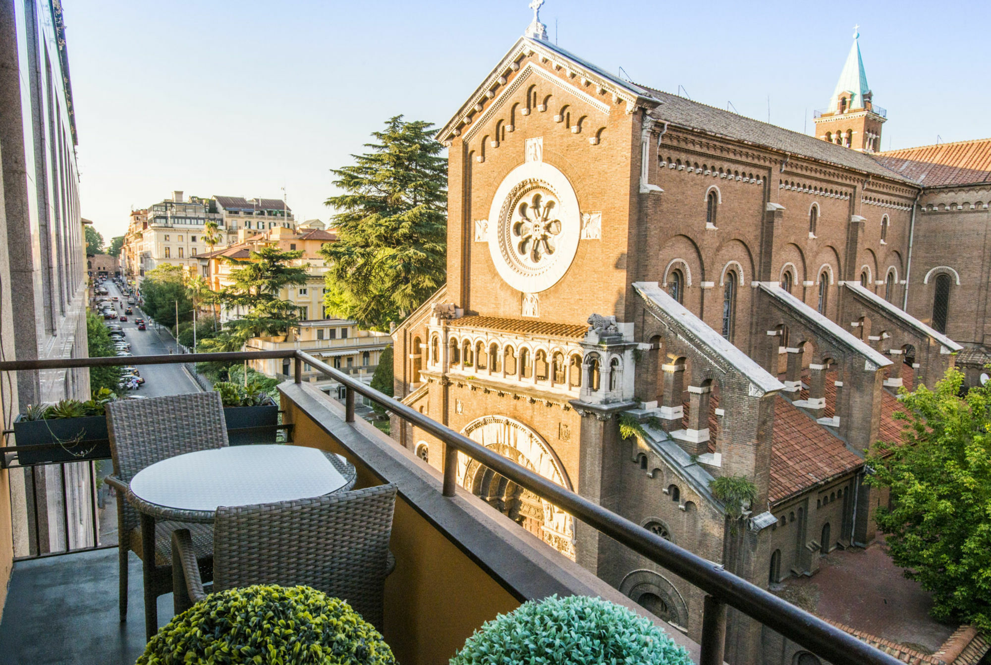
[[[195,392],[150,399],[125,399],[107,404],[107,429],[114,475],[107,484],[117,490],[117,528],[120,576],[120,619],[127,620],[128,550],[144,563],[145,631],[151,639],[159,629],[156,601],[171,589],[170,533],[185,528],[202,574],[211,575],[213,529],[209,524],[162,521],[140,514],[125,499],[135,475],[169,457],[227,446],[224,407],[218,392]],[[145,534],[142,526],[150,524]],[[148,536],[147,538],[145,536]],[[146,544],[154,543],[149,557]]]

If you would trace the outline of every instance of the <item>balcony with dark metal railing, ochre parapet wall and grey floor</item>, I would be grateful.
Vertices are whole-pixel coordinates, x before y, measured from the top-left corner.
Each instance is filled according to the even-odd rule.
[[[484,621],[526,600],[552,594],[600,596],[634,610],[661,625],[704,665],[723,662],[730,607],[835,665],[901,662],[303,352],[13,361],[0,363],[0,371],[283,358],[294,367],[293,380],[278,388],[283,422],[291,424],[290,443],[346,456],[358,469],[359,488],[382,482],[399,488],[390,542],[397,564],[386,582],[384,634],[401,663],[446,663]],[[345,403],[303,383],[304,363],[346,387]],[[700,643],[637,606],[485,500],[457,488],[458,455],[447,455],[440,473],[372,424],[356,421],[356,394],[429,433],[448,451],[463,453],[566,510],[581,522],[580,528],[612,538],[697,586],[706,594]],[[5,451],[4,466],[13,468],[16,454],[16,448]],[[8,549],[9,538],[0,533]],[[140,563],[132,558],[130,614],[121,624],[117,620],[117,553],[112,545],[101,547],[15,562],[0,622],[4,645],[0,663],[134,662],[144,646]],[[171,599],[160,598],[159,608],[160,625],[164,625]]]

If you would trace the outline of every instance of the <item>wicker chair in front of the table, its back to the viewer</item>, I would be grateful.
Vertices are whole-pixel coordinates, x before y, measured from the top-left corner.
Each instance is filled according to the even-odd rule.
[[[213,590],[305,585],[347,601],[382,629],[395,485],[217,508]],[[172,533],[175,612],[206,598],[190,533]]]

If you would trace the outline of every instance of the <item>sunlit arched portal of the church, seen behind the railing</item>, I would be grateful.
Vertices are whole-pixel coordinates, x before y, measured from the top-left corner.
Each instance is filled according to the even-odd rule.
[[[461,433],[547,480],[572,489],[553,449],[523,423],[503,415],[486,415],[468,423]],[[568,558],[575,559],[574,518],[561,508],[509,482],[464,453],[458,453],[458,485],[487,500]]]

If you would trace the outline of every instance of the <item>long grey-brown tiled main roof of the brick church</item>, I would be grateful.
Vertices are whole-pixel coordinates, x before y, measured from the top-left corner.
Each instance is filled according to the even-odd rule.
[[[772,150],[845,166],[856,170],[882,175],[896,180],[912,178],[901,175],[890,168],[878,164],[870,156],[855,150],[828,143],[822,139],[800,134],[769,123],[747,118],[746,116],[723,111],[715,106],[695,102],[685,97],[661,90],[650,90],[651,94],[664,103],[650,112],[651,116],[681,127],[702,130],[709,134],[726,137],[735,141],[765,146]],[[663,145],[662,145],[663,150]]]

